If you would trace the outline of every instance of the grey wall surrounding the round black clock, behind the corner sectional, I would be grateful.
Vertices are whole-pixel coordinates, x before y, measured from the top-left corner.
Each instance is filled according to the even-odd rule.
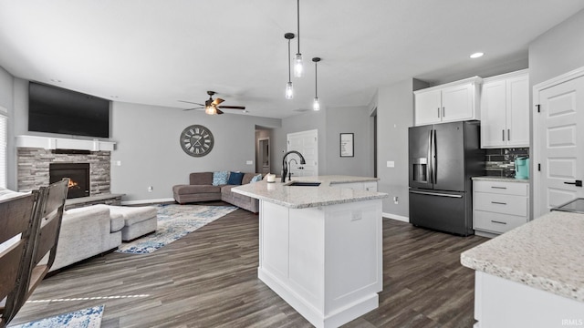
[[[280,125],[274,118],[209,116],[203,111],[120,102],[113,104],[111,121],[111,138],[118,142],[111,154],[111,192],[126,194],[124,201],[170,199],[172,186],[188,183],[191,172],[255,172],[255,125]],[[202,158],[188,156],[179,144],[183,128],[193,124],[214,135],[213,150]]]

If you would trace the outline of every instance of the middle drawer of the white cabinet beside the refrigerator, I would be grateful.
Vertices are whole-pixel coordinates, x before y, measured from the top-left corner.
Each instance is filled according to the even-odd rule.
[[[474,210],[527,217],[526,197],[474,192],[473,202]]]

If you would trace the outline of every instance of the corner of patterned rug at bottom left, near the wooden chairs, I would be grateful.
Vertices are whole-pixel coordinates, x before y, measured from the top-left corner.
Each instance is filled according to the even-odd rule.
[[[10,328],[99,328],[103,305],[79,310],[72,313],[59,314],[54,317],[37,320],[30,323],[8,325]]]

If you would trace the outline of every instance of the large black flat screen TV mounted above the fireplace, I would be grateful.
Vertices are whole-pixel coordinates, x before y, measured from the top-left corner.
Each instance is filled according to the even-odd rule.
[[[110,138],[110,100],[30,82],[28,130]]]

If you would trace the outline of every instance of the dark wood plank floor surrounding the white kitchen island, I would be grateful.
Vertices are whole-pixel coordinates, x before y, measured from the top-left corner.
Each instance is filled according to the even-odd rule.
[[[472,327],[474,272],[459,259],[483,241],[383,219],[380,307],[345,326]],[[258,216],[235,210],[149,255],[109,253],[58,272],[12,323],[105,304],[102,327],[310,327],[257,265]]]

